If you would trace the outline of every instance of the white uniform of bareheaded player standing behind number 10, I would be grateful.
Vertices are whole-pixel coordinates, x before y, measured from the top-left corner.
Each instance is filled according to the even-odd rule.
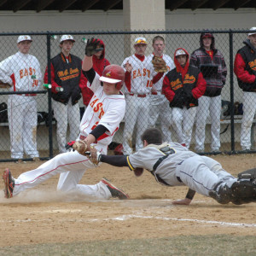
[[[153,54],[149,55],[149,61],[151,61],[153,57]],[[169,55],[162,55],[162,58],[166,61],[168,71],[175,67],[174,62]],[[166,73],[163,74],[158,82],[154,83],[154,88],[157,90],[157,92],[150,96],[148,127],[155,127],[157,119],[160,118],[160,129],[163,134],[163,139],[165,142],[172,142],[172,132],[170,130],[172,126],[172,108],[169,107],[170,102],[166,99],[166,96],[162,94],[162,86],[165,75]]]

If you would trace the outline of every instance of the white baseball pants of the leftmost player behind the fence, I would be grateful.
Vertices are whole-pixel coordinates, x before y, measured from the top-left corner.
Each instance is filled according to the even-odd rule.
[[[22,159],[23,152],[38,157],[38,113],[35,96],[11,95],[8,99],[11,158]]]

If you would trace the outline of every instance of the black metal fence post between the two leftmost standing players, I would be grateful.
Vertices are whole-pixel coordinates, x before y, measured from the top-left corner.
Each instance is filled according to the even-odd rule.
[[[50,76],[50,33],[47,33],[47,72],[48,84],[51,84]],[[48,119],[49,119],[49,158],[53,158],[53,132],[52,132],[52,108],[51,108],[51,89],[48,89]]]

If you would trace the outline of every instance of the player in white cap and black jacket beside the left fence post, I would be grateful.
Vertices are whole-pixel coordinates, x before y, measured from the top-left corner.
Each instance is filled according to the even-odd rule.
[[[67,123],[70,140],[79,135],[81,98],[80,87],[86,85],[82,74],[82,60],[70,54],[75,40],[71,35],[63,35],[60,39],[61,53],[50,60],[50,76],[54,116],[57,120],[57,141],[60,153],[67,152]],[[70,71],[72,70],[72,73]],[[44,73],[44,83],[48,84],[48,69]],[[80,87],[79,87],[80,86]],[[63,89],[62,91],[57,89]]]

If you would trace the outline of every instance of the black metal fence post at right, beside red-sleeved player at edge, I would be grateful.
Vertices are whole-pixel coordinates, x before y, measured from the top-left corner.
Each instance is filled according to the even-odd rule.
[[[233,73],[233,32],[230,30],[230,136],[231,152],[235,153],[235,123],[234,123],[234,73]]]

